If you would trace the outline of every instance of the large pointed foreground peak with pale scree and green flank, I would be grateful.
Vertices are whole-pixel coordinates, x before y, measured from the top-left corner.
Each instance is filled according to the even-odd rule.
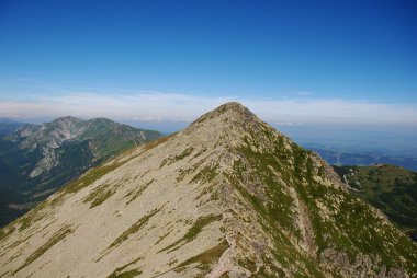
[[[416,277],[417,245],[237,103],[90,170],[0,233],[0,277]]]

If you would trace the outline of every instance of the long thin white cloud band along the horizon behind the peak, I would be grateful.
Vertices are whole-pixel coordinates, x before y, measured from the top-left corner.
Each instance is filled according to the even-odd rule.
[[[417,107],[328,99],[256,100],[195,94],[143,92],[98,94],[78,92],[27,101],[0,101],[0,117],[36,118],[65,115],[119,120],[191,121],[203,113],[238,101],[264,120],[296,124],[362,124],[417,126]]]

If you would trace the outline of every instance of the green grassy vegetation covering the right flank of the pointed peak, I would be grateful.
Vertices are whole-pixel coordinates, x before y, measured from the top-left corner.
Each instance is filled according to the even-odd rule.
[[[329,263],[331,258],[325,258],[322,253],[333,250],[340,255],[346,254],[352,265],[358,263],[358,255],[368,255],[379,269],[375,271],[384,267],[387,271],[393,268],[405,268],[408,274],[417,271],[417,266],[413,265],[417,262],[416,244],[382,221],[356,197],[319,183],[328,177],[324,165],[315,164],[319,161],[315,161],[314,154],[295,143],[285,144],[284,138],[280,137],[271,139],[270,144],[266,141],[260,146],[257,138],[268,137],[261,132],[244,136],[245,143],[235,149],[240,159],[235,161],[233,173],[226,177],[250,201],[262,229],[273,236],[272,252],[277,262],[283,267],[303,266],[293,271],[294,277],[320,277],[323,270],[317,260]],[[371,174],[372,181],[379,181],[376,174]],[[296,216],[291,212],[292,195],[284,186],[294,188],[296,197],[305,205],[303,213],[309,218],[314,243],[318,247],[315,258],[297,252],[290,241],[289,234],[300,238],[301,233],[293,223]],[[410,198],[402,201],[410,204]],[[327,212],[320,206],[328,208]],[[338,267],[342,266],[337,262],[333,264],[331,275],[336,277],[340,270]]]

